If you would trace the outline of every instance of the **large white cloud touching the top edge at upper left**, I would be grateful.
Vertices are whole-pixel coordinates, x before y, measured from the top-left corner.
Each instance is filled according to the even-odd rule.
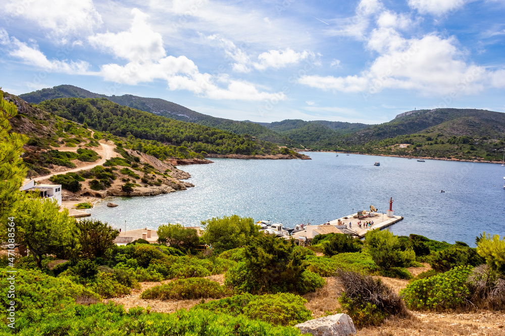
[[[102,23],[92,0],[11,1],[5,6],[12,18],[23,17],[47,30],[47,36],[66,43],[76,36],[85,36]]]

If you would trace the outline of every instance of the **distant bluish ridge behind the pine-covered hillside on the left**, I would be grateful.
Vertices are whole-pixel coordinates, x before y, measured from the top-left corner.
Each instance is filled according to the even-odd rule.
[[[235,121],[231,119],[216,118],[207,114],[198,113],[182,105],[160,98],[145,98],[133,95],[106,96],[96,94],[73,85],[59,85],[53,88],[25,93],[19,97],[34,104],[39,104],[42,101],[57,98],[107,98],[119,105],[128,106],[179,121],[194,122],[199,125],[219,128],[238,135],[248,134],[250,136],[278,144],[291,143],[289,139],[280,136],[275,131],[260,124],[249,121]]]

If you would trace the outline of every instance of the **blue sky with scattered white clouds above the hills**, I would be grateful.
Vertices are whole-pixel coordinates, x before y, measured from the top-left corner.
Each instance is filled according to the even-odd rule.
[[[0,86],[234,120],[505,112],[505,0],[0,0]]]

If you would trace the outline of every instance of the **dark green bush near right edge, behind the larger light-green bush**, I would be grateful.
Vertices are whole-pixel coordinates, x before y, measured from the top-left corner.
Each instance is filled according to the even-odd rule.
[[[462,265],[478,266],[484,259],[477,254],[477,249],[461,244],[452,245],[431,255],[431,268],[437,272],[447,272],[451,268]]]

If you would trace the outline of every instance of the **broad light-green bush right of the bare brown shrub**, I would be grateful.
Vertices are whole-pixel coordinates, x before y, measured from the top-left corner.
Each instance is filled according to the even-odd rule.
[[[443,310],[468,303],[467,283],[472,266],[457,266],[452,270],[427,279],[414,281],[400,292],[410,309]]]

